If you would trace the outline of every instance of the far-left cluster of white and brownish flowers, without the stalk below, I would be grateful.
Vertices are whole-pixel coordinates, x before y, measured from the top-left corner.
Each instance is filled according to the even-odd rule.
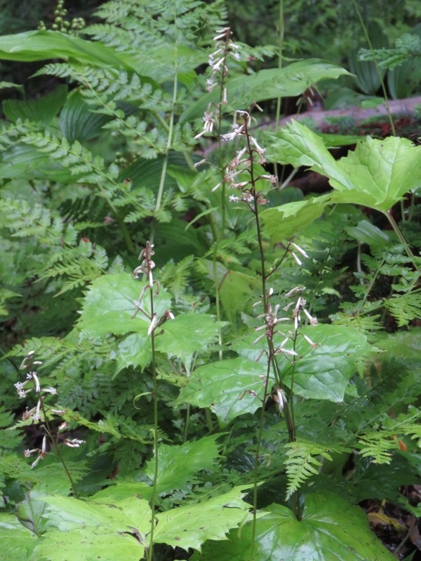
[[[53,396],[57,395],[57,390],[53,387],[43,388],[41,387],[41,382],[39,381],[39,375],[35,372],[34,367],[37,365],[42,365],[40,360],[34,360],[34,351],[29,351],[27,356],[22,360],[20,365],[20,370],[29,370],[26,375],[25,381],[18,381],[15,384],[16,391],[20,399],[25,398],[30,392],[34,391],[37,395],[36,406],[29,409],[26,408],[22,415],[24,421],[32,421],[34,424],[43,423],[41,425],[42,430],[46,433],[42,439],[41,448],[32,448],[32,450],[25,450],[25,457],[29,458],[34,454],[37,454],[35,461],[32,463],[31,468],[34,468],[41,459],[44,459],[47,454],[47,436],[58,444],[58,435],[67,431],[69,424],[63,421],[60,426],[58,426],[57,436],[54,438],[51,434],[49,420],[52,415],[62,415],[65,414],[65,410],[53,409],[50,406],[46,406],[44,403],[44,398],[46,394],[51,394]],[[83,444],[84,440],[78,440],[77,438],[65,438],[62,440],[62,444],[69,446],[71,448],[77,448]]]

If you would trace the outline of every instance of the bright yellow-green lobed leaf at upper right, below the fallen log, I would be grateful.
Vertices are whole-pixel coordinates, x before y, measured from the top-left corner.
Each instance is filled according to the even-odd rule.
[[[421,147],[406,138],[367,137],[339,161],[316,133],[296,121],[277,138],[270,153],[272,160],[306,165],[326,175],[340,191],[332,195],[332,203],[354,203],[386,212],[410,189],[421,185]]]

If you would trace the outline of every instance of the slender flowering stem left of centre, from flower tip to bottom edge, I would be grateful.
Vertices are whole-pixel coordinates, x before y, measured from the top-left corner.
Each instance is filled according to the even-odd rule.
[[[140,274],[142,274],[142,278],[146,280],[145,285],[143,286],[140,296],[138,300],[134,303],[136,306],[135,312],[133,313],[133,318],[137,316],[140,312],[143,316],[146,316],[149,320],[149,327],[147,330],[147,334],[151,339],[151,349],[152,349],[152,387],[154,391],[154,458],[155,458],[155,467],[154,467],[154,480],[153,480],[153,487],[152,487],[152,498],[151,498],[151,510],[152,510],[152,520],[151,520],[151,531],[149,533],[149,547],[147,548],[147,561],[152,561],[153,557],[153,544],[154,544],[154,530],[156,526],[156,484],[158,481],[158,445],[159,445],[159,438],[158,438],[158,383],[156,380],[156,359],[155,359],[155,330],[156,327],[162,325],[168,319],[174,319],[173,313],[171,310],[164,311],[161,317],[155,311],[154,306],[154,299],[159,295],[160,285],[157,280],[154,280],[153,270],[155,268],[155,263],[152,261],[152,257],[154,256],[154,245],[147,241],[145,249],[140,252],[139,259],[142,263],[136,267],[133,271],[133,277],[139,278]],[[143,306],[143,300],[145,299],[146,295],[149,295],[149,310],[145,309]]]

